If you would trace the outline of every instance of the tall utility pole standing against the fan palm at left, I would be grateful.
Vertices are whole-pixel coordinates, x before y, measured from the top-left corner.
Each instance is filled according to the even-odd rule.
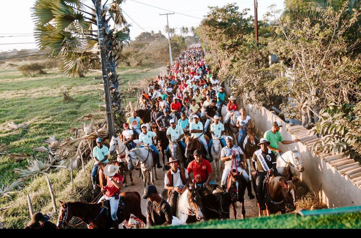
[[[106,67],[106,52],[105,52],[105,36],[104,36],[104,20],[103,19],[103,5],[101,5],[101,0],[92,0],[95,5],[95,14],[96,22],[98,26],[98,39],[99,39],[99,48],[100,48],[100,61],[101,61],[101,71],[103,73],[103,86],[104,86],[104,97],[105,97],[105,109],[106,109],[106,122],[108,123],[108,135],[109,140],[114,136],[114,118],[112,110],[112,99],[110,98],[110,89],[109,89],[109,77]]]

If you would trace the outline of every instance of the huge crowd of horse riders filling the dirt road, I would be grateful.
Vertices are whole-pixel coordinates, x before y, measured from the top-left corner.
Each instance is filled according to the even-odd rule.
[[[182,52],[172,65],[168,64],[167,73],[165,77],[158,75],[152,80],[147,93],[143,91],[140,104],[145,113],[142,114],[142,118],[137,112],[132,112],[132,116],[123,124],[119,138],[115,138],[124,145],[124,150],[117,152],[118,158],[127,157],[126,162],[130,170],[134,167],[132,160],[138,159],[130,154],[139,150],[138,147],[148,151],[145,160],[148,160],[150,153],[153,154],[154,170],[155,166],[168,170],[164,178],[163,191],[159,193],[154,185],[148,185],[144,189],[142,197],[148,200],[147,219],[144,222],[149,225],[170,225],[175,217],[182,223],[229,218],[227,211],[230,205],[236,215],[236,201],[241,202],[244,217],[245,189],[247,188],[249,199],[255,198],[252,194],[251,180],[260,212],[270,210],[273,205],[277,208],[273,209],[274,211],[285,211],[286,205],[288,208],[294,208],[293,184],[290,185],[283,174],[279,174],[277,156],[282,154],[279,142],[291,144],[299,140],[283,140],[279,133],[282,125],[274,122],[271,129],[264,133],[264,138],[256,143],[260,149],[255,146],[252,150],[252,172],[249,174],[245,169],[248,165],[244,140],[248,130],[253,126],[252,119],[244,108],[239,108],[234,96],[230,96],[229,101],[226,101],[224,88],[206,65],[201,47],[192,46]],[[231,127],[238,128],[236,141],[231,136]],[[163,166],[157,150],[157,146],[161,144],[158,136],[160,132],[165,133],[168,145],[168,162]],[[228,136],[225,133],[228,133]],[[216,141],[220,144],[219,158],[213,158],[216,156],[212,152],[212,145]],[[101,138],[96,139],[96,143],[97,146],[92,151],[95,160],[92,171],[93,186],[95,188],[97,183],[98,169],[105,165],[101,167],[106,176],[106,186],[101,188],[105,193],[102,199],[109,200],[112,226],[118,228],[121,220],[118,217],[119,201],[123,198],[120,196],[120,190],[125,174],[119,174],[119,166],[108,163],[109,148],[103,144]],[[177,145],[177,153],[170,151],[172,144]],[[184,158],[181,160],[180,157],[183,155]],[[212,159],[224,162],[220,186],[212,180]],[[144,161],[140,164],[144,169]],[[190,177],[191,173],[193,179]],[[144,174],[143,177],[145,181]],[[277,177],[279,178],[274,181],[283,181],[284,185],[280,183],[280,186],[284,187],[280,189],[284,191],[282,190],[281,200],[274,201],[269,195],[269,190],[265,189],[264,181],[270,183],[272,178]],[[213,198],[209,199],[209,196]],[[59,218],[58,225],[60,221]],[[62,221],[64,223],[64,219]]]

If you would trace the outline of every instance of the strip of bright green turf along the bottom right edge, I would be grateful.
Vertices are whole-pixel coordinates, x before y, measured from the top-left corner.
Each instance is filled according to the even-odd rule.
[[[329,228],[361,228],[361,212],[331,214],[320,216],[295,216],[295,214],[272,215],[269,217],[253,217],[245,220],[212,220],[198,222],[193,225],[157,227],[168,229],[329,229]]]

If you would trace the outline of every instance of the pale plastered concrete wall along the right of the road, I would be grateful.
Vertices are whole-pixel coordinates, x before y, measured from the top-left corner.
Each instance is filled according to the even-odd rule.
[[[231,95],[230,84],[231,80],[225,81],[225,91],[228,95]],[[238,98],[239,105],[243,105],[242,98],[239,95],[235,96]],[[286,123],[265,107],[262,107],[261,110],[251,105],[244,105],[244,107],[255,122],[258,134],[263,135],[265,131],[271,129],[272,122],[277,121],[283,125],[280,133],[284,140],[296,139],[287,131]],[[346,176],[342,176],[330,163],[314,155],[311,150],[300,142],[289,145],[279,143],[279,145],[280,150],[283,152],[296,147],[301,153],[305,171],[303,173],[293,171],[293,174],[304,181],[311,191],[318,194],[323,203],[330,208],[361,205],[361,189],[355,186]]]

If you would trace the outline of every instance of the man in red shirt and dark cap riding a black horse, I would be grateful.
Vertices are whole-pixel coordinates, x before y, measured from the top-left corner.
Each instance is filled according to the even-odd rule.
[[[215,184],[212,179],[212,166],[208,160],[202,159],[202,152],[195,150],[193,152],[194,160],[188,164],[187,173],[193,172],[193,183],[200,186],[202,183]]]

